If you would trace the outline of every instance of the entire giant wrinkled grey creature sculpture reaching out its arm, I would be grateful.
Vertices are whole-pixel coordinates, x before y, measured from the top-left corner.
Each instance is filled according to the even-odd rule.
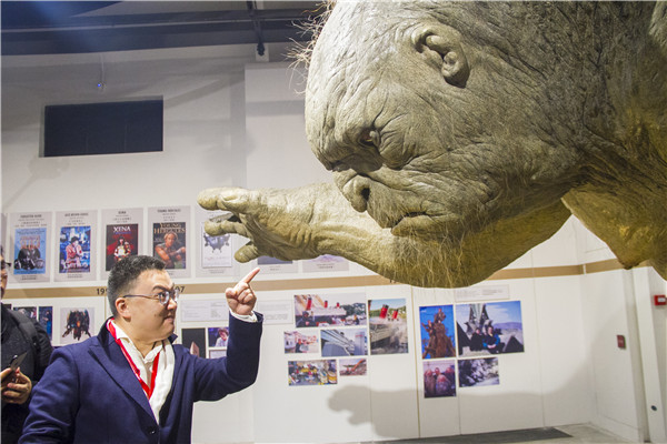
[[[306,123],[337,185],[211,189],[237,260],[479,282],[579,218],[667,278],[667,16],[648,2],[340,2]]]

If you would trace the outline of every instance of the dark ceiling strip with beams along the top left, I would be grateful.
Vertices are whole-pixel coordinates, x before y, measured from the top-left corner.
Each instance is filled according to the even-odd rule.
[[[211,9],[211,2],[150,2],[150,10],[165,4],[169,12],[130,13],[146,2],[2,1],[2,56],[103,52],[138,49],[182,48],[218,44],[305,41],[311,38],[296,24],[320,11],[315,2],[302,8]],[[287,2],[293,7],[296,2]],[[197,6],[201,9],[198,10]],[[113,6],[112,8],[107,7]],[[287,6],[287,4],[286,4]],[[122,8],[119,8],[122,7]],[[167,8],[168,7],[168,8]],[[119,14],[119,10],[128,13]],[[116,13],[104,13],[116,11]]]

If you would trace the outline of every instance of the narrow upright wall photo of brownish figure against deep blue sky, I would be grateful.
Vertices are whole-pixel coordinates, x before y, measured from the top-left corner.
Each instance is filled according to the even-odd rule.
[[[420,306],[419,323],[421,324],[421,359],[456,356],[452,305]]]

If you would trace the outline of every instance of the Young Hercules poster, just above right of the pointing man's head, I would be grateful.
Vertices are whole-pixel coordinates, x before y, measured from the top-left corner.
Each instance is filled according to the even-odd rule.
[[[188,278],[191,253],[188,250],[190,208],[151,208],[148,216],[153,258],[165,262],[165,269],[172,278]]]

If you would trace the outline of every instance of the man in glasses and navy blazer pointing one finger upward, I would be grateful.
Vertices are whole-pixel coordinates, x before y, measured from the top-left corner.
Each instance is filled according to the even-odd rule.
[[[113,317],[98,336],[58,349],[33,392],[20,443],[190,443],[196,401],[255,382],[262,316],[250,281],[226,290],[227,357],[172,344],[178,290],[165,264],[128,256],[109,274]]]

